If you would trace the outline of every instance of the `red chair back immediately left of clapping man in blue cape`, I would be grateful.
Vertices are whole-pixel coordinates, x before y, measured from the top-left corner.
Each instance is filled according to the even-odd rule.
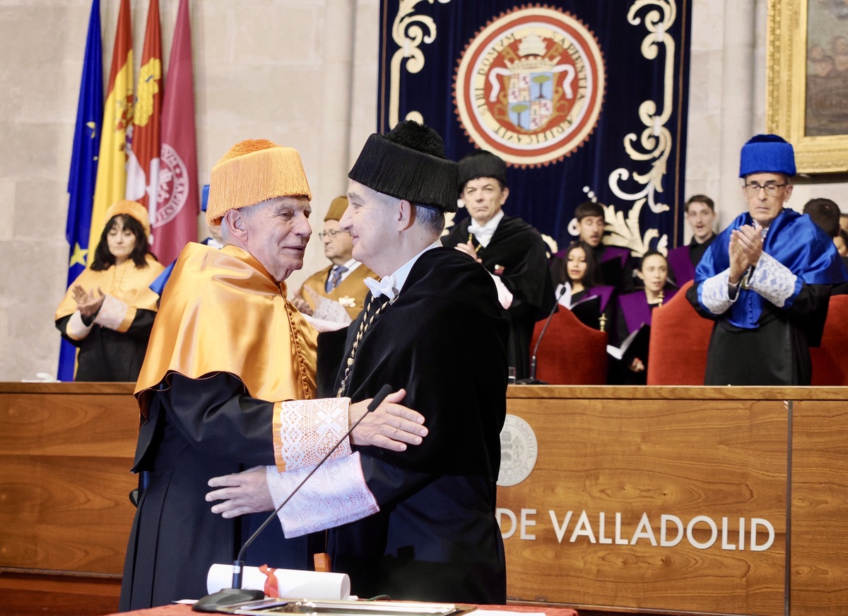
[[[692,280],[650,316],[648,385],[704,385],[713,321],[686,299]]]

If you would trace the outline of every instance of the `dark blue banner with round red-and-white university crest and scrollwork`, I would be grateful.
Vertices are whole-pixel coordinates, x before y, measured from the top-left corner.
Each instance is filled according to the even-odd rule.
[[[691,0],[382,0],[377,125],[509,165],[507,214],[559,247],[574,208],[637,256],[683,241]],[[466,217],[464,209],[456,220]],[[449,224],[452,222],[449,221]]]

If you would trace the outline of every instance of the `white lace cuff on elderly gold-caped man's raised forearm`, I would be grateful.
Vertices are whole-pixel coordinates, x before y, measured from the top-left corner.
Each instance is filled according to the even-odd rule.
[[[350,398],[288,400],[274,405],[274,458],[282,472],[315,466],[349,429]],[[349,456],[345,438],[327,460]]]

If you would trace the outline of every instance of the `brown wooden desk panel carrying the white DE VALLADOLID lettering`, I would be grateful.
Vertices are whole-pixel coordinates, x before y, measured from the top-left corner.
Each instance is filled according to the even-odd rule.
[[[499,488],[500,508],[520,523],[522,508],[535,509],[535,540],[520,530],[506,539],[510,598],[568,602],[580,606],[669,609],[702,613],[778,614],[784,606],[786,427],[784,402],[510,399],[509,413],[533,427],[538,461],[527,480]],[[562,524],[558,541],[555,511]],[[581,513],[588,536],[573,536]],[[718,524],[717,542],[696,549],[683,538],[675,547],[654,547],[646,527],[632,540],[643,513],[659,542],[661,515],[684,525],[696,516]],[[722,518],[728,518],[728,547],[739,543],[745,518],[745,549],[723,550]],[[751,552],[750,519],[773,525],[773,545]],[[503,518],[502,518],[503,519]],[[586,524],[585,522],[588,522]],[[502,523],[508,531],[509,522]],[[588,534],[588,531],[586,531]],[[693,540],[709,542],[706,522],[695,524]],[[758,541],[764,540],[759,534]]]

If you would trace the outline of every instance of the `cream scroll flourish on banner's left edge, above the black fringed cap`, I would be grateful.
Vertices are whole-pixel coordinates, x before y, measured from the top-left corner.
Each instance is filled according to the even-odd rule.
[[[394,126],[399,120],[399,97],[400,97],[400,65],[406,60],[405,68],[410,73],[417,73],[424,68],[424,53],[419,46],[422,42],[427,44],[436,40],[436,24],[432,17],[427,15],[413,15],[416,4],[425,0],[399,0],[398,14],[394,17],[392,25],[392,38],[398,44],[398,51],[392,56],[388,83],[388,125]],[[432,4],[434,0],[426,0]],[[440,4],[447,4],[450,0],[438,0]],[[425,33],[426,29],[426,33]],[[404,119],[414,119],[416,122],[424,122],[421,112],[410,111]]]

